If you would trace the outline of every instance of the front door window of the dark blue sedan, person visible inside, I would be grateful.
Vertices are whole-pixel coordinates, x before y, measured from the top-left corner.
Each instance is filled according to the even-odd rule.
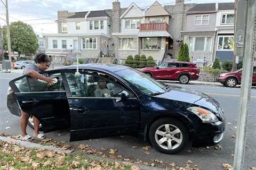
[[[101,75],[81,73],[77,77],[74,72],[65,74],[72,97],[110,98],[121,97],[122,93],[128,97],[133,97],[121,85]]]

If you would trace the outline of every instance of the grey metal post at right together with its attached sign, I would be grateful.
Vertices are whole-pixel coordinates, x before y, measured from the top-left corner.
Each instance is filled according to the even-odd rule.
[[[243,56],[243,73],[236,130],[234,170],[243,169],[247,117],[252,88],[253,56],[256,43],[256,1],[238,0],[236,11],[235,55]]]

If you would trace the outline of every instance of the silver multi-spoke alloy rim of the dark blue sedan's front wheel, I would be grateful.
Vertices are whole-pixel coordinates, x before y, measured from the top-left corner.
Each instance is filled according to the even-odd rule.
[[[172,124],[163,124],[155,132],[157,144],[166,150],[178,148],[183,140],[181,130]]]

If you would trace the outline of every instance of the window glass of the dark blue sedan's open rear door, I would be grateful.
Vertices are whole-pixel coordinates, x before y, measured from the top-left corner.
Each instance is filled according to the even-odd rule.
[[[20,92],[43,92],[65,90],[60,73],[51,73],[50,75],[44,73],[43,75],[46,77],[56,78],[58,81],[57,83],[52,84],[52,86],[47,86],[46,81],[25,76],[19,80],[14,81],[14,84]]]

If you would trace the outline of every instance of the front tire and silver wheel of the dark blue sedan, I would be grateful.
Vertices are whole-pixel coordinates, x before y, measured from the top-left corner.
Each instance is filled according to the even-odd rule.
[[[150,126],[149,140],[160,152],[176,154],[188,145],[189,132],[182,122],[173,118],[161,118]]]

